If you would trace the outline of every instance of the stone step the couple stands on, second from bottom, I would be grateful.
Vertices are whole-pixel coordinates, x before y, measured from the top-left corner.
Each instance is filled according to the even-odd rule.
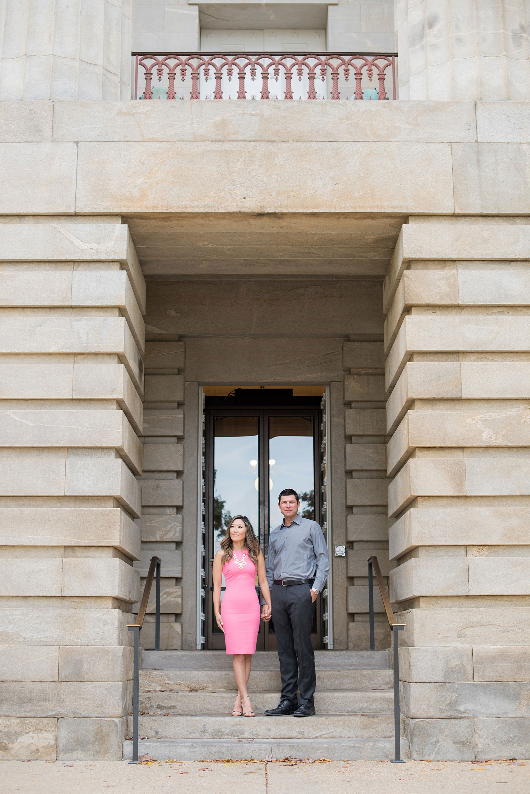
[[[394,713],[253,718],[226,715],[140,714],[139,734],[149,739],[348,739],[394,736]],[[128,736],[132,735],[129,717]]]

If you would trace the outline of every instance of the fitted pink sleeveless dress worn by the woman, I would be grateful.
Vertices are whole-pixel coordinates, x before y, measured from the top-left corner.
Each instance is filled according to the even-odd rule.
[[[236,552],[239,560],[241,552]],[[242,569],[232,557],[223,567],[226,590],[221,600],[226,653],[255,653],[259,632],[259,598],[255,592],[256,566],[250,557]]]

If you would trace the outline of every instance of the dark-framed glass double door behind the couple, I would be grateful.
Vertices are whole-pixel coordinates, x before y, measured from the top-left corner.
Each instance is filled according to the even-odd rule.
[[[206,543],[209,649],[225,649],[213,615],[213,557],[234,515],[246,515],[267,557],[271,530],[282,522],[278,493],[294,488],[300,513],[321,522],[321,411],[317,408],[206,408]],[[259,585],[256,577],[256,591]],[[225,577],[221,584],[221,602]],[[313,647],[321,647],[321,599],[313,623]],[[256,650],[275,650],[274,619],[260,622]]]

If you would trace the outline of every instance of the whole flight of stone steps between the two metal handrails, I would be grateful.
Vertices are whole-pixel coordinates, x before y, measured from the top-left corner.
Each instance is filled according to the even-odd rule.
[[[394,757],[393,673],[388,651],[316,651],[317,716],[267,717],[281,690],[278,655],[255,653],[248,682],[255,717],[232,717],[232,657],[222,651],[143,651],[138,753],[159,761],[219,758]],[[132,735],[129,717],[128,735]],[[401,736],[403,732],[401,730]],[[130,758],[132,742],[125,741]],[[401,738],[401,757],[409,746]]]

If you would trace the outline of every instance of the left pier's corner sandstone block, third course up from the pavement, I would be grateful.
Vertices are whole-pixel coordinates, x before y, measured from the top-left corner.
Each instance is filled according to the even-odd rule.
[[[132,648],[63,646],[59,649],[60,681],[125,681],[132,679]]]

